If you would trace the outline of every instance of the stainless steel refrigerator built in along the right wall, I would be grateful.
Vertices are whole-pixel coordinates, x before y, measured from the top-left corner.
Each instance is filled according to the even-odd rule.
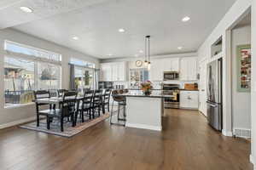
[[[207,120],[211,127],[222,130],[222,59],[207,65]]]

